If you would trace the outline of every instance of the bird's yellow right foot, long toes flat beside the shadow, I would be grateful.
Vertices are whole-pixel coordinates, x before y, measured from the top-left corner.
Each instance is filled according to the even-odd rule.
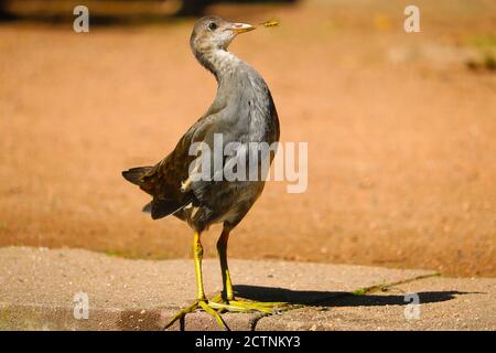
[[[250,300],[227,300],[220,295],[214,297],[209,301],[212,308],[217,309],[219,312],[223,311],[236,311],[236,312],[252,312],[259,311],[263,313],[274,313],[279,311],[284,311],[292,306],[287,302],[261,302],[261,301],[250,301]]]

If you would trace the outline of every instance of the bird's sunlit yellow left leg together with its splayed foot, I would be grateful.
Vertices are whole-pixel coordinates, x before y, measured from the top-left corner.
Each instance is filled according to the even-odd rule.
[[[203,259],[203,246],[201,243],[201,235],[198,232],[195,232],[193,237],[193,257],[195,263],[195,275],[196,275],[196,289],[197,289],[197,299],[187,308],[180,310],[174,317],[169,320],[164,330],[170,328],[175,321],[184,318],[187,313],[195,311],[196,309],[203,309],[215,318],[217,323],[224,330],[228,330],[226,323],[223,318],[218,314],[218,312],[214,309],[215,307],[207,302],[205,297],[205,291],[203,289],[203,276],[202,276],[202,259]]]

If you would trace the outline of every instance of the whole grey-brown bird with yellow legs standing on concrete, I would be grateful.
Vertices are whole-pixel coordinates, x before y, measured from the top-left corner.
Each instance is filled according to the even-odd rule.
[[[280,136],[278,113],[266,81],[252,66],[228,51],[229,44],[238,34],[255,29],[255,25],[229,22],[217,15],[204,17],[195,22],[190,46],[198,63],[215,76],[215,99],[163,160],[151,167],[131,168],[122,172],[127,181],[151,195],[152,200],[143,211],[150,212],[153,220],[173,215],[185,221],[194,233],[197,298],[172,317],[164,329],[183,320],[187,313],[204,310],[223,329],[228,330],[220,315],[225,311],[270,313],[284,306],[282,302],[255,302],[235,298],[227,265],[229,234],[260,196],[267,171],[260,168],[255,180],[227,180],[223,175],[225,168],[235,165],[233,170],[237,171],[241,167],[250,167],[248,160],[255,160],[256,167],[261,167],[262,158],[258,161],[252,159],[254,153],[259,152],[254,152],[250,147],[257,143],[272,146],[278,143]],[[214,167],[211,165],[208,170],[206,164],[209,163],[200,165],[195,152],[198,152],[200,146],[202,151],[203,147],[215,150],[214,145],[219,136],[223,147],[237,143],[236,153],[223,153],[222,165],[215,165],[214,161]],[[270,150],[266,154],[269,164],[274,153],[274,150]],[[215,157],[211,156],[211,159],[202,161],[214,160]],[[198,174],[205,178],[193,178]],[[222,178],[217,178],[218,175]],[[215,298],[207,299],[203,288],[201,237],[216,223],[223,224],[217,242],[223,290]]]

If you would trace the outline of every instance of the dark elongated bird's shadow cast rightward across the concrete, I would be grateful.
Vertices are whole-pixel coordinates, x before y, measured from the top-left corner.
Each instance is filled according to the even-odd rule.
[[[353,295],[346,291],[316,291],[316,290],[290,290],[284,288],[258,287],[238,285],[234,286],[235,295],[255,301],[276,301],[306,307],[378,307],[378,306],[406,306],[411,299],[406,292],[392,292],[392,289],[381,295]],[[422,291],[417,292],[419,303],[448,301],[455,296],[468,295],[456,290],[449,291]]]

